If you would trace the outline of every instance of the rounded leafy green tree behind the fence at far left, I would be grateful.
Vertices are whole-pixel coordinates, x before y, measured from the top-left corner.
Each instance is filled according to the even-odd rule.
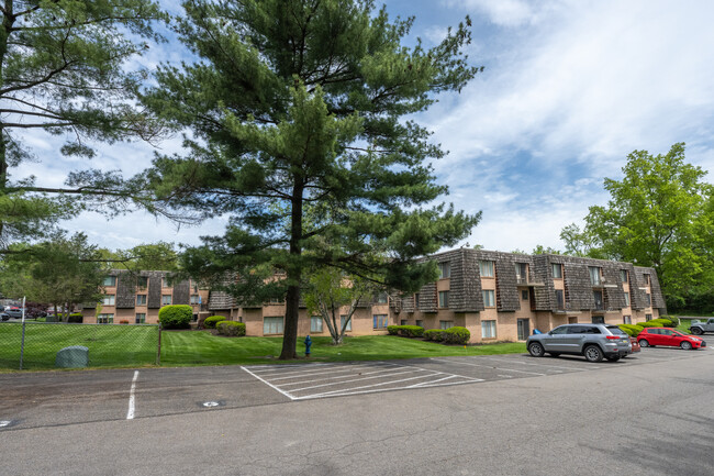
[[[0,267],[5,296],[49,303],[65,322],[77,305],[101,299],[107,268],[83,233],[56,232],[48,241],[13,247],[22,251],[8,254]]]

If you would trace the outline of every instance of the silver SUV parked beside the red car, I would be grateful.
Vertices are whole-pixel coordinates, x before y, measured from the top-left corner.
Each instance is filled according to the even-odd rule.
[[[633,352],[629,336],[617,325],[607,324],[560,325],[547,334],[531,335],[526,347],[534,357],[572,354],[584,355],[589,362],[603,357],[615,362]]]

